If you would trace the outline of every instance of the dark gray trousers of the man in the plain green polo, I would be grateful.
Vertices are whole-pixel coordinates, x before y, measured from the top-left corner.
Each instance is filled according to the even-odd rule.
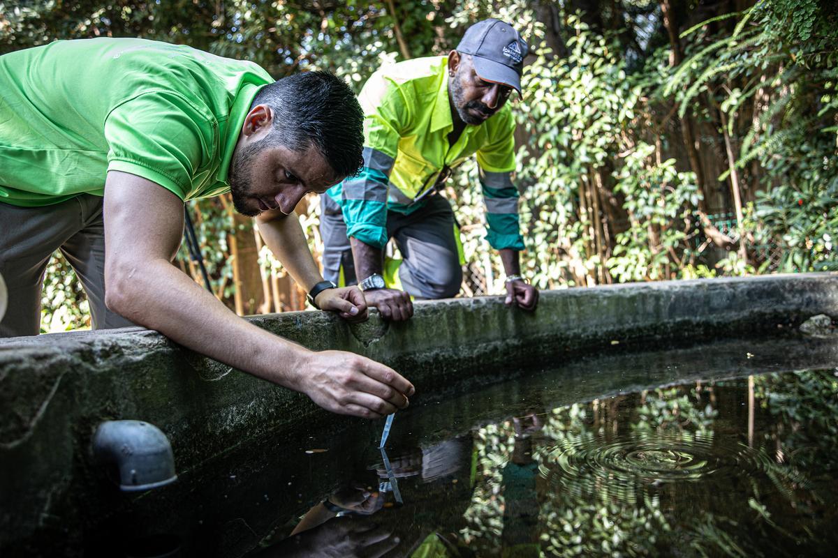
[[[0,337],[38,335],[44,272],[57,249],[81,280],[93,329],[134,325],[105,306],[102,198],[82,194],[44,207],[0,202],[0,274],[8,287]]]

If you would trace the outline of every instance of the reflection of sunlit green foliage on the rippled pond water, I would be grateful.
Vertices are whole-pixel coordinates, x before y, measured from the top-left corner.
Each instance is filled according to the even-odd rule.
[[[745,378],[542,413],[544,426],[532,435],[538,504],[529,510],[537,516],[541,555],[654,556],[677,548],[685,556],[749,556],[760,555],[765,540],[786,555],[829,529],[829,502],[821,496],[830,492],[830,468],[838,463],[838,372],[751,377],[751,439],[739,411],[749,396]],[[519,443],[514,433],[511,421],[474,433],[477,474],[460,535],[477,555],[509,551],[500,541],[510,506],[503,472]],[[633,460],[670,446],[683,467],[693,468],[674,465],[678,474],[666,477],[665,463]],[[718,494],[707,494],[705,482]]]

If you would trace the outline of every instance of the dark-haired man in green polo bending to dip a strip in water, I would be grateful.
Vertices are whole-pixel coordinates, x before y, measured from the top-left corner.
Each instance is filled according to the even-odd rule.
[[[96,38],[3,55],[0,90],[0,336],[38,333],[60,249],[95,328],[144,325],[329,411],[406,407],[413,387],[396,371],[261,330],[172,265],[184,201],[229,191],[313,304],[365,319],[358,289],[323,281],[293,214],[360,166],[362,115],[346,84],[323,72],[274,82],[250,62]]]

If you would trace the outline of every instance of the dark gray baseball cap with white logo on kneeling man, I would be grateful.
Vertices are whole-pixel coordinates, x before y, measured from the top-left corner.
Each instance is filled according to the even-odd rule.
[[[480,79],[508,85],[521,92],[524,57],[530,48],[509,23],[484,19],[466,29],[457,52],[471,54]]]

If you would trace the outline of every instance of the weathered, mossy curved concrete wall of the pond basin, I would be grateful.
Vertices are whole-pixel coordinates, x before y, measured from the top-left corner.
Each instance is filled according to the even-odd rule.
[[[297,312],[251,320],[314,350],[383,361],[416,385],[413,401],[498,381],[499,366],[650,340],[754,335],[838,316],[838,274],[627,284],[544,292],[534,314],[500,297],[416,305],[406,324],[374,316],[349,326]],[[277,363],[282,366],[282,363]],[[0,548],[85,502],[117,498],[89,466],[106,419],[135,418],[172,441],[178,474],[271,430],[354,421],[308,398],[184,350],[137,328],[0,341]]]

